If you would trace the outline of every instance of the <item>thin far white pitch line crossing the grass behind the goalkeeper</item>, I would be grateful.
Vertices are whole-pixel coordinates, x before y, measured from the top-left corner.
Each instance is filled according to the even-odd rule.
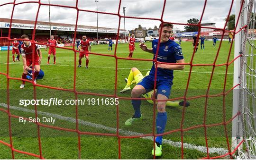
[[[7,64],[7,63],[0,63],[0,64]],[[9,63],[10,65],[23,65],[21,63]],[[67,67],[74,67],[72,65],[44,65],[41,64],[41,66],[67,66]],[[101,66],[90,66],[92,68],[109,68],[109,69],[116,69],[115,67],[101,67]],[[118,68],[118,69],[131,69],[131,68]],[[149,68],[138,68],[139,70],[150,70]],[[185,71],[185,70],[175,70],[175,72],[190,72],[190,71]],[[211,74],[211,72],[200,72],[200,71],[192,71],[192,73],[205,73],[205,74]],[[214,72],[214,74],[221,74],[225,75],[225,73],[219,73],[219,72]],[[233,75],[233,73],[227,73],[227,75]]]

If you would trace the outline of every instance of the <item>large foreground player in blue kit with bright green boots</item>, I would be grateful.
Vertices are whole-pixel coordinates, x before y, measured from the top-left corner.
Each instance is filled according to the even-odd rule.
[[[182,54],[182,49],[179,44],[174,41],[169,40],[172,34],[173,25],[164,23],[160,25],[158,33],[162,28],[162,33],[160,39],[155,39],[152,42],[152,48],[148,48],[143,42],[140,43],[140,48],[143,51],[154,54],[154,60],[158,62],[167,62],[175,64],[155,64],[153,65],[149,72],[149,75],[144,77],[131,91],[132,98],[139,98],[141,94],[145,94],[154,89],[155,83],[155,70],[156,73],[156,99],[157,102],[157,116],[156,116],[156,132],[157,134],[162,134],[165,131],[165,126],[167,122],[167,114],[165,111],[166,101],[171,94],[171,88],[173,85],[174,70],[183,70],[184,58]],[[158,41],[160,41],[159,51],[157,57],[156,50],[158,46]],[[132,118],[129,118],[126,122],[126,126],[133,125],[135,121],[142,119],[142,114],[140,113],[141,100],[132,100],[133,109],[135,111]],[[152,154],[156,156],[162,155],[162,136],[157,136],[155,139],[155,147],[152,150]]]

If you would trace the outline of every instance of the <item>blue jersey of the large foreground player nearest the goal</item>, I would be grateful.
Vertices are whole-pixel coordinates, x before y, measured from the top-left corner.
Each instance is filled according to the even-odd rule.
[[[153,40],[152,42],[152,48],[154,53],[153,59],[155,59],[157,45],[158,45],[158,39]],[[167,42],[164,42],[164,43],[160,43],[159,51],[157,55],[157,61],[167,62],[167,63],[176,63],[177,60],[180,60],[180,59],[184,59],[184,57],[182,53],[182,48],[179,44],[171,40],[168,40]],[[149,76],[155,76],[154,62],[153,62],[153,66],[151,67]],[[174,78],[174,70],[157,68],[156,79],[167,80],[172,82],[173,78]]]

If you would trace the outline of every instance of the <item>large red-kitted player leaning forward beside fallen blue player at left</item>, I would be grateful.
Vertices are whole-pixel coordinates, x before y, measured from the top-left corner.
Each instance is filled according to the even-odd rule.
[[[42,59],[42,52],[37,44],[32,44],[29,40],[28,36],[26,34],[23,34],[20,38],[25,39],[23,40],[23,44],[21,45],[21,56],[23,61],[23,74],[22,79],[27,79],[27,71],[31,70],[29,66],[32,64],[35,66],[35,80],[34,83],[36,84],[36,77],[39,74],[40,71],[40,63]],[[34,61],[33,60],[33,48],[34,48]],[[25,81],[22,81],[22,84],[20,85],[20,88],[23,89],[25,86]]]

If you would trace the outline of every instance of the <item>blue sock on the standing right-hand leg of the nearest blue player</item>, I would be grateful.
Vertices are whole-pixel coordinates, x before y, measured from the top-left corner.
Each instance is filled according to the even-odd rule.
[[[166,112],[158,112],[156,116],[156,133],[162,134],[165,132],[165,126],[167,122],[167,113]],[[155,142],[162,144],[163,136],[157,136],[155,138]]]

